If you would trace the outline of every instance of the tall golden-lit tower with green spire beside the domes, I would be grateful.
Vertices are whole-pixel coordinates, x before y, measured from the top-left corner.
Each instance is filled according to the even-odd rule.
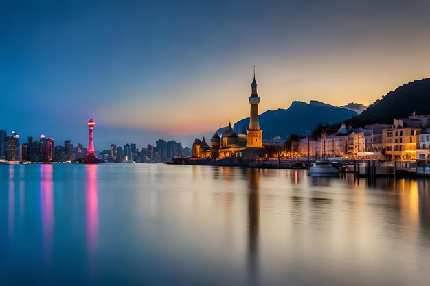
[[[254,79],[251,83],[251,91],[252,93],[249,97],[251,114],[249,116],[249,129],[247,130],[247,147],[261,148],[263,147],[263,131],[260,130],[260,122],[258,121],[258,104],[260,103],[260,97],[257,95],[256,67],[254,67]]]

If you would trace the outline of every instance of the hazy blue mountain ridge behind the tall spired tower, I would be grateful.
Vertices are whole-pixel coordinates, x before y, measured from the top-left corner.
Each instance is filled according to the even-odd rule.
[[[352,106],[350,108],[360,106]],[[351,107],[352,106],[352,107]],[[319,123],[333,124],[345,121],[358,115],[358,112],[346,107],[332,106],[315,100],[306,102],[295,101],[287,109],[267,110],[259,115],[260,129],[263,139],[280,136],[287,139],[291,134],[311,132]],[[237,134],[246,133],[249,127],[249,117],[234,124]]]

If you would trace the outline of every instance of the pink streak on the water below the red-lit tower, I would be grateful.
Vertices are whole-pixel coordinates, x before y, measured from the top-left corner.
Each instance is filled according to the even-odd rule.
[[[97,252],[98,239],[98,189],[97,165],[88,164],[87,167],[87,248],[92,264]]]

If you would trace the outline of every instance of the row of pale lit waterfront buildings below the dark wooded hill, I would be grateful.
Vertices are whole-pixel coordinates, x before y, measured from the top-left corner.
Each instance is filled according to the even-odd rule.
[[[343,157],[400,161],[430,160],[430,115],[394,119],[393,124],[371,124],[324,130],[317,139],[306,136],[292,143],[293,156]]]

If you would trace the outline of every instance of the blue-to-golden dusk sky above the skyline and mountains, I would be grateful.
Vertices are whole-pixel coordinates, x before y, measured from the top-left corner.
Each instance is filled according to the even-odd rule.
[[[294,100],[374,100],[430,76],[426,1],[0,1],[0,129],[190,145]]]

